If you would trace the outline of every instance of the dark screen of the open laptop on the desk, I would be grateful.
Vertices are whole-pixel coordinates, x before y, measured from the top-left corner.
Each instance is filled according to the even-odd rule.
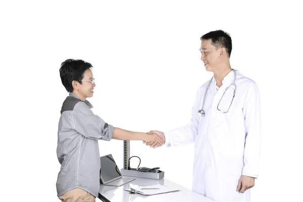
[[[108,183],[122,175],[112,155],[100,157],[100,165],[100,177],[104,183]]]

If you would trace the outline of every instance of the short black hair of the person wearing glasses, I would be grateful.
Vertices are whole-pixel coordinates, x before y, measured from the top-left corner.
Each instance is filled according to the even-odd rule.
[[[83,60],[68,59],[61,63],[60,77],[62,84],[68,92],[73,92],[73,81],[82,84],[83,74],[86,70],[91,69],[92,65]]]

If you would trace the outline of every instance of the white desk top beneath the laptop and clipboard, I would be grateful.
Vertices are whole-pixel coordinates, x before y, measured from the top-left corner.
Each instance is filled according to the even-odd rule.
[[[144,196],[138,193],[129,194],[129,191],[124,190],[124,188],[129,188],[130,185],[140,185],[140,186],[151,186],[156,184],[166,185],[172,188],[179,189],[181,191],[171,192],[171,193],[163,193],[158,195],[150,195]],[[126,201],[135,201],[135,202],[149,202],[149,201],[186,201],[186,202],[214,202],[197,192],[194,192],[190,189],[182,187],[168,179],[161,180],[153,180],[153,179],[144,179],[144,178],[136,178],[136,180],[125,184],[120,187],[114,186],[104,186],[100,185],[99,189],[99,199],[105,202],[126,202]]]

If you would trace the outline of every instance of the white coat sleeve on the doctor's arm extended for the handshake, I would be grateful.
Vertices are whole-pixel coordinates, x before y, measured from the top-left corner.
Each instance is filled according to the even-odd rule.
[[[175,146],[189,144],[195,141],[198,133],[199,115],[198,115],[198,92],[195,96],[195,102],[191,110],[191,118],[189,122],[179,128],[164,132],[165,143],[164,145]]]

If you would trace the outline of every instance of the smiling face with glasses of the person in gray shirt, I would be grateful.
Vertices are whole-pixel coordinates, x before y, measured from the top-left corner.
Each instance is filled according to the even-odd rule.
[[[87,97],[92,97],[93,88],[96,84],[91,81],[93,80],[93,74],[91,69],[85,70],[83,73],[82,84],[78,81],[73,81],[74,93],[80,97],[80,99],[85,100]]]

